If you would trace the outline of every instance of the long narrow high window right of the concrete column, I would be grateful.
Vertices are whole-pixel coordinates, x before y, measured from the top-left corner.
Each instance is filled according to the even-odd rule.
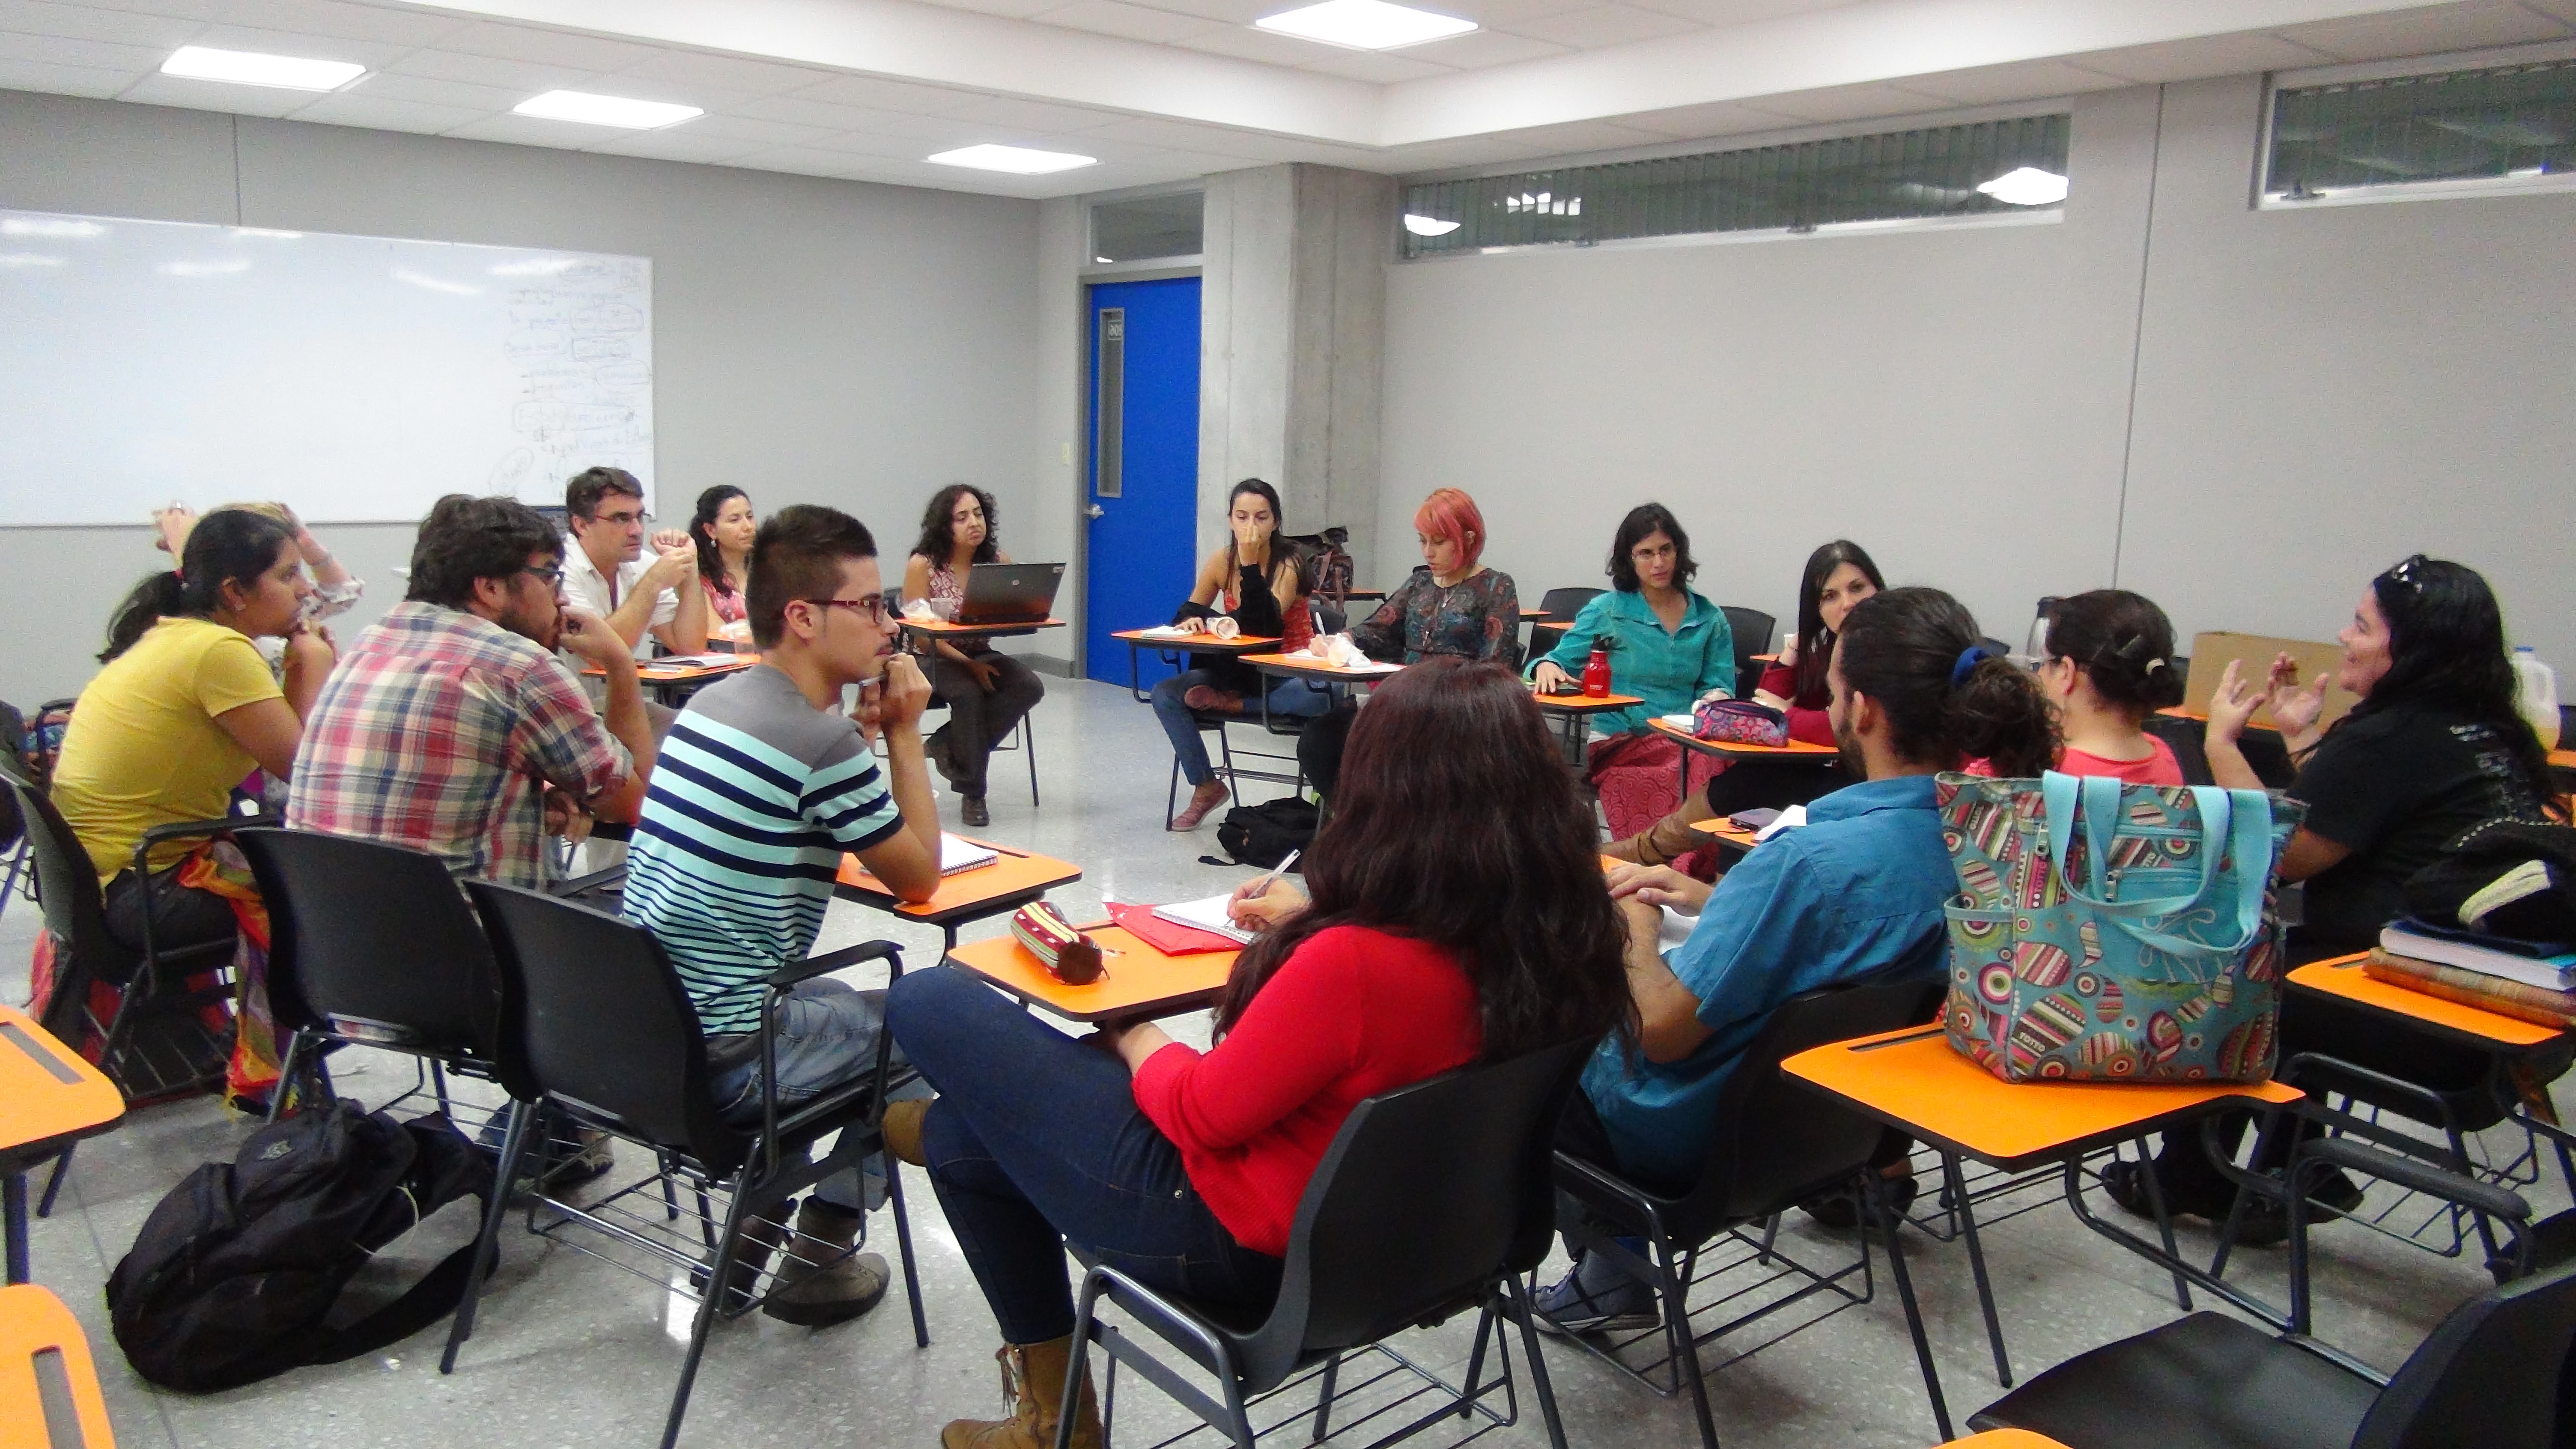
[[[1922,126],[1404,188],[1404,255],[1698,232],[1808,232],[2053,209],[2069,116]]]

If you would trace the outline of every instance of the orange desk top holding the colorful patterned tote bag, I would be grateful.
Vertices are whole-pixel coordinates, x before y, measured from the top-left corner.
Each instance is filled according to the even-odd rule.
[[[2226,1101],[2298,1101],[2280,1083],[2004,1083],[1950,1049],[1940,1026],[1906,1026],[1798,1052],[1780,1070],[1914,1137],[2020,1171],[2161,1132]]]

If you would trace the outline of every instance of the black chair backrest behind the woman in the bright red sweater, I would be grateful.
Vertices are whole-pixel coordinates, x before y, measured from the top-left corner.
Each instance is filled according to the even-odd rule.
[[[1247,1385],[1535,1269],[1556,1217],[1556,1114],[1589,1052],[1569,1042],[1363,1101],[1298,1201],[1278,1305],[1244,1346]]]

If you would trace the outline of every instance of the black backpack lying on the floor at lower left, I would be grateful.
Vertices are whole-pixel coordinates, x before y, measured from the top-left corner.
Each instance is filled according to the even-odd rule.
[[[152,1209],[108,1276],[108,1323],[134,1372],[188,1392],[374,1354],[464,1299],[474,1243],[327,1328],[340,1289],[415,1222],[489,1194],[492,1163],[446,1116],[394,1122],[337,1101],[273,1122]]]

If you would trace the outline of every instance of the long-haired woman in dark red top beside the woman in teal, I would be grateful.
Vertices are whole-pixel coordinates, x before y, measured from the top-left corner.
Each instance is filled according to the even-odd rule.
[[[1780,660],[1762,670],[1754,701],[1788,714],[1788,737],[1808,745],[1832,745],[1834,722],[1824,717],[1829,691],[1824,665],[1834,660],[1834,634],[1842,616],[1862,598],[1888,588],[1870,554],[1850,541],[1834,539],[1806,557],[1806,575],[1798,580],[1798,634],[1780,650]],[[1754,763],[1736,761],[1708,779],[1708,789],[1682,799],[1682,807],[1656,820],[1646,830],[1605,846],[1605,856],[1662,866],[1705,846],[1692,820],[1716,820],[1739,810],[1806,804],[1850,784],[1837,768],[1811,763]]]

